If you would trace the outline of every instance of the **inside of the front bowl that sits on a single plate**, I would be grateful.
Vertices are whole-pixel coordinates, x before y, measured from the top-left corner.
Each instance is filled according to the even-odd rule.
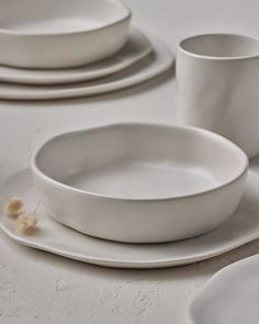
[[[246,155],[198,129],[111,125],[50,139],[35,166],[63,185],[117,199],[196,194],[236,179]]]

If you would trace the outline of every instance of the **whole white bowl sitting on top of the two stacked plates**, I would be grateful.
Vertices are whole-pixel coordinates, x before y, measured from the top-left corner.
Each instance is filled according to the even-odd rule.
[[[127,38],[131,11],[119,0],[2,2],[2,65],[23,68],[86,65],[114,54]]]

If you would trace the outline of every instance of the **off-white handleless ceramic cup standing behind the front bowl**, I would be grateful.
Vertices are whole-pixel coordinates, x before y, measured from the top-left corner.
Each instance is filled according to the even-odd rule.
[[[177,48],[179,123],[216,132],[249,158],[259,153],[259,40],[189,37]]]

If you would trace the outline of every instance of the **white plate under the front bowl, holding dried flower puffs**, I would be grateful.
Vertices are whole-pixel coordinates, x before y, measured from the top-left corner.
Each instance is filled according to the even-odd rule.
[[[192,239],[164,244],[122,244],[93,238],[60,225],[38,211],[38,231],[33,236],[18,234],[9,220],[1,228],[20,244],[80,261],[120,268],[161,268],[207,259],[259,237],[259,174],[248,175],[245,197],[237,212],[218,230]],[[1,186],[1,198],[20,195],[27,209],[37,204],[31,172],[21,170]]]

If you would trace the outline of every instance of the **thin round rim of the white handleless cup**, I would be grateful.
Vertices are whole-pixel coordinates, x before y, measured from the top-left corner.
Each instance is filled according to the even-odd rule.
[[[244,60],[244,59],[250,59],[250,58],[257,58],[259,57],[259,51],[258,54],[252,55],[238,55],[238,56],[213,56],[213,55],[205,55],[205,54],[198,54],[192,51],[185,49],[182,45],[184,42],[190,41],[192,38],[203,37],[203,36],[238,36],[247,40],[252,40],[259,43],[259,38],[256,36],[249,36],[245,34],[238,34],[238,33],[204,33],[204,34],[196,34],[189,37],[185,37],[181,40],[178,45],[177,49],[192,56],[194,58],[201,58],[201,59],[207,59],[207,60]]]

